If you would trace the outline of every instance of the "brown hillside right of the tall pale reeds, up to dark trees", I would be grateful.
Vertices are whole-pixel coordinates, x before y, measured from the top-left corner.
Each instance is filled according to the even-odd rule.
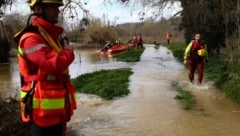
[[[183,31],[179,30],[181,18],[171,18],[159,22],[125,23],[116,26],[117,34],[123,41],[128,41],[134,34],[141,34],[145,43],[154,41],[165,44],[165,34],[170,32],[173,43],[184,43]]]

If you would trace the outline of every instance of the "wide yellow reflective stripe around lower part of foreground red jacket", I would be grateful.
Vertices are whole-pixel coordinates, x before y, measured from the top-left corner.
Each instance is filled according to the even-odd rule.
[[[64,98],[62,99],[41,99],[41,109],[53,110],[64,108]]]

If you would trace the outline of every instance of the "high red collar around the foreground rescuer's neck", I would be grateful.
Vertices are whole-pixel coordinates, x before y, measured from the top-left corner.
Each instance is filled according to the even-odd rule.
[[[53,40],[57,40],[63,32],[62,27],[56,26],[36,16],[32,19],[32,24],[41,26],[53,38]]]

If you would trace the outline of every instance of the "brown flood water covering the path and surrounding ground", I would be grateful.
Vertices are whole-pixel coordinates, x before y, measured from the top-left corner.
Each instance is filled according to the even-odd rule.
[[[188,71],[171,51],[153,45],[137,63],[100,59],[97,49],[75,50],[71,77],[101,69],[132,68],[130,94],[105,101],[78,94],[78,109],[68,126],[79,136],[239,136],[240,107],[216,90],[211,82],[189,83]],[[1,92],[18,85],[16,61],[0,65]],[[196,97],[193,110],[183,110],[174,99],[171,83],[178,82]],[[3,87],[5,86],[5,87]],[[6,87],[8,86],[8,87]],[[14,90],[14,89],[13,89]]]

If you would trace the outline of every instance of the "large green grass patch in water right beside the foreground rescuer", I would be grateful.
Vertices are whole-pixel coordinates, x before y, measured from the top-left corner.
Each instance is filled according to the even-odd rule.
[[[72,81],[79,92],[110,100],[128,95],[129,76],[132,73],[130,68],[101,70],[80,75]]]

